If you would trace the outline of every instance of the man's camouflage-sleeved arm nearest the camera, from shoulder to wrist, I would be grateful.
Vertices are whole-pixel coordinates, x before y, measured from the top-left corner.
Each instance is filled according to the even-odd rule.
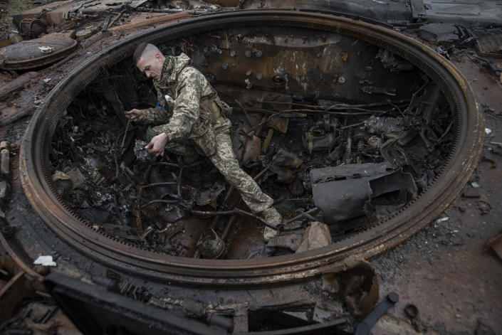
[[[158,134],[164,132],[169,141],[188,137],[192,126],[199,119],[203,80],[205,80],[204,75],[194,68],[186,68],[179,74],[171,121],[153,127],[155,132]]]

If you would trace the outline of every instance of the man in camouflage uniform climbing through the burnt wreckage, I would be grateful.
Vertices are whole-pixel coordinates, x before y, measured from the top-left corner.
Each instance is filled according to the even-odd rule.
[[[281,214],[272,207],[273,199],[242,171],[235,158],[227,117],[231,108],[219,99],[204,75],[190,66],[190,58],[184,53],[164,56],[147,43],[136,48],[133,58],[157,90],[157,107],[125,112],[133,122],[155,125],[147,130],[148,151],[163,156],[167,150],[185,159],[197,156],[197,152],[209,157],[253,213],[261,213],[273,225],[281,223]],[[275,235],[272,228],[263,230],[265,242]]]

